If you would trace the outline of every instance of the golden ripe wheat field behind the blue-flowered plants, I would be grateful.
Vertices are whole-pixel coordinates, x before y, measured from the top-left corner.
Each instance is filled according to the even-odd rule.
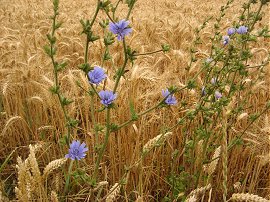
[[[227,30],[237,19],[243,2],[245,1],[237,0],[230,6],[222,20],[221,29]],[[80,162],[87,173],[93,172],[96,156],[93,152],[95,142],[90,98],[77,85],[77,82],[80,82],[85,89],[89,86],[86,76],[78,68],[84,60],[85,46],[79,21],[92,17],[95,4],[94,0],[60,1],[59,19],[63,21],[63,25],[56,35],[57,58],[68,62],[65,71],[59,75],[59,82],[64,94],[74,100],[68,106],[69,115],[79,120],[72,138],[83,140],[89,147],[85,160]],[[225,4],[226,0],[138,0],[136,2],[130,18],[133,33],[127,38],[127,43],[138,52],[157,50],[160,44],[167,43],[170,44],[171,51],[139,57],[134,66],[128,66],[127,78],[120,80],[117,110],[112,112],[111,119],[117,123],[125,122],[130,118],[128,113],[130,100],[134,102],[137,111],[144,111],[160,99],[162,89],[170,85],[184,85],[187,78],[198,71],[200,61],[194,64],[189,73],[185,70],[190,60],[189,48],[195,38],[194,29],[208,16],[216,17],[220,7]],[[120,6],[118,11],[120,18],[125,16],[126,10],[126,6]],[[264,8],[263,20],[256,27],[263,24],[270,25],[269,10],[269,6]],[[55,192],[52,192],[51,198],[48,194],[40,194],[44,198],[37,201],[57,201],[53,199],[54,194],[61,195],[61,190],[65,186],[64,178],[60,175],[61,169],[54,169],[53,165],[51,165],[53,168],[47,167],[47,170],[45,168],[50,162],[62,159],[65,155],[57,144],[60,134],[65,132],[64,114],[57,97],[49,91],[54,82],[53,67],[50,58],[43,50],[43,46],[47,43],[46,34],[51,29],[49,16],[52,12],[52,2],[49,0],[0,0],[0,165],[10,155],[4,169],[2,171],[0,169],[0,194],[2,193],[3,201],[8,201],[7,198],[11,201],[16,200],[15,187],[18,186],[19,180],[17,158],[28,157],[30,144],[42,145],[37,152],[32,151],[40,171],[44,170],[44,175],[48,169],[53,171],[53,174],[46,174],[48,190],[42,192],[49,193],[52,190]],[[97,22],[104,18],[104,13],[101,13]],[[93,28],[97,32],[102,31],[98,23],[94,24]],[[213,21],[210,20],[202,31],[203,43],[199,47],[200,51],[196,53],[202,60],[209,56],[208,50],[211,46],[209,37],[212,31]],[[269,39],[260,40],[256,47],[252,48],[255,53],[252,61],[254,64],[260,63],[267,57],[269,42]],[[101,63],[103,48],[101,40],[90,45],[91,63],[97,65]],[[117,43],[111,48],[116,67],[123,63],[121,50],[120,44]],[[113,75],[114,69],[110,62],[105,62],[103,66],[108,70],[109,75]],[[258,83],[254,88],[254,95],[248,100],[255,112],[262,110],[264,103],[269,100],[269,68],[268,64],[263,82]],[[113,87],[112,79],[106,81],[106,87]],[[177,95],[177,98],[191,103],[191,107],[196,102],[198,93],[197,90],[183,91]],[[119,183],[125,173],[125,166],[134,164],[136,159],[140,158],[142,147],[160,134],[164,127],[173,125],[183,114],[184,110],[181,107],[157,109],[110,135],[108,147],[100,164],[100,176],[102,181],[106,182],[103,196],[109,193],[115,183]],[[233,148],[228,153],[229,198],[233,193],[249,193],[270,200],[269,116],[270,114],[266,113],[260,117],[246,132],[245,144]],[[96,114],[96,117],[99,122],[105,122],[102,113]],[[242,131],[247,124],[245,118],[240,118],[235,123],[230,138]],[[162,201],[164,196],[172,192],[167,177],[173,166],[175,168],[183,166],[190,173],[196,169],[198,166],[196,163],[182,165],[181,157],[173,158],[176,149],[179,151],[183,149],[182,132],[181,126],[174,129],[166,144],[151,151],[140,165],[131,169],[121,194],[116,193],[116,201]],[[200,155],[200,149],[198,143],[194,155]],[[219,156],[218,151],[215,153]],[[31,152],[29,158],[30,155]],[[215,155],[214,151],[211,155]],[[64,163],[65,160],[59,160],[56,162],[56,167]],[[207,194],[204,201],[221,201],[222,198],[222,165],[220,161],[215,163],[212,168],[211,187],[205,188]],[[68,166],[62,167],[67,169]],[[194,185],[193,179],[188,180]],[[188,193],[194,189],[192,185]],[[204,185],[201,184],[202,186]],[[93,191],[89,185],[80,184],[74,186],[66,200],[94,201],[90,193]]]

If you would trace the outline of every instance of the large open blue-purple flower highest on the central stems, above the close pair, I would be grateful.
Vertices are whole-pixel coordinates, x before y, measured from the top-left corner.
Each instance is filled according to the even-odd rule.
[[[132,29],[128,27],[129,21],[120,20],[119,22],[109,24],[109,30],[113,34],[117,34],[118,41],[122,41],[124,37],[132,32]]]

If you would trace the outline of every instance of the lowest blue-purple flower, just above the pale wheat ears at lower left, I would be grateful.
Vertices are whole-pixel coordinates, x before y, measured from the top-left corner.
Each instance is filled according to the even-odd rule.
[[[66,154],[66,158],[70,158],[71,160],[81,160],[86,156],[86,153],[88,151],[88,148],[86,147],[86,144],[83,142],[80,143],[79,140],[73,140],[70,144],[70,148],[68,150],[68,154]]]

